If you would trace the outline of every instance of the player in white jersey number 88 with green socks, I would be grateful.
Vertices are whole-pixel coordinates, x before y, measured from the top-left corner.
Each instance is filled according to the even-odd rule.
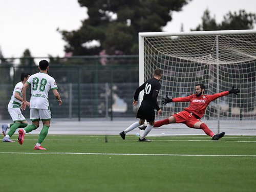
[[[53,77],[47,74],[49,70],[49,62],[47,60],[41,60],[39,62],[40,70],[39,73],[31,75],[29,80],[24,84],[22,88],[22,110],[26,109],[26,105],[29,105],[26,100],[26,89],[31,87],[31,97],[30,97],[30,120],[32,124],[25,127],[25,129],[20,129],[18,131],[18,142],[23,144],[24,136],[26,133],[32,132],[39,127],[39,121],[42,121],[42,130],[39,134],[39,139],[34,146],[34,150],[46,150],[46,148],[41,146],[42,141],[46,138],[48,134],[48,129],[51,122],[51,111],[48,102],[48,92],[53,91],[54,96],[57,99],[59,105],[62,104],[60,95],[57,91],[58,87],[56,81]]]

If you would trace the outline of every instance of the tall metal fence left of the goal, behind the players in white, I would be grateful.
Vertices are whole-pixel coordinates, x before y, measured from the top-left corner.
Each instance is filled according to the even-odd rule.
[[[138,106],[133,107],[132,102],[139,86],[138,56],[106,58],[108,62],[104,65],[100,59],[75,57],[65,62],[50,61],[48,74],[56,80],[63,101],[58,106],[54,95],[49,92],[53,118],[77,117],[80,120],[84,117],[112,119],[136,116]],[[29,65],[14,65],[11,62],[0,64],[0,119],[10,119],[7,105],[15,84],[20,81],[20,74],[39,72],[33,62],[27,63]],[[28,90],[28,99],[29,95]],[[29,110],[23,114],[29,119]]]

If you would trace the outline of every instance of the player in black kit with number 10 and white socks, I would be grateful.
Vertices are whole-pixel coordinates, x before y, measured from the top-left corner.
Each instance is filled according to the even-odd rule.
[[[129,127],[127,127],[126,130],[122,131],[119,135],[122,137],[122,139],[125,139],[126,133],[134,130],[136,127],[142,125],[145,120],[149,122],[147,125],[144,133],[140,136],[139,141],[151,141],[145,139],[145,136],[150,133],[152,130],[154,123],[155,123],[155,109],[157,110],[158,114],[162,114],[162,110],[159,108],[159,105],[157,103],[157,96],[159,93],[159,90],[161,88],[160,79],[162,77],[162,70],[156,69],[154,71],[154,77],[151,79],[148,79],[145,81],[135,92],[134,94],[134,101],[133,105],[138,104],[138,97],[139,93],[144,90],[144,96],[143,100],[141,102],[140,108],[137,112],[136,118],[139,118],[140,120],[131,124]]]

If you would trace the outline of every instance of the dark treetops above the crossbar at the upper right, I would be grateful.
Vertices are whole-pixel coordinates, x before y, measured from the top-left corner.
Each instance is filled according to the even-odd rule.
[[[214,30],[239,30],[253,29],[253,24],[256,23],[256,14],[246,13],[245,10],[240,10],[238,13],[227,13],[221,24],[217,24],[215,18],[210,16],[210,11],[206,9],[202,16],[202,24],[191,31],[214,31]]]

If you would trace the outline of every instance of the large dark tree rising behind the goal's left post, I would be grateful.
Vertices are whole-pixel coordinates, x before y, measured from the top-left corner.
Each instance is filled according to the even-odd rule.
[[[60,31],[67,42],[66,52],[73,55],[138,54],[138,33],[162,31],[172,20],[172,11],[180,11],[191,0],[78,0],[88,8],[89,18],[77,31]],[[98,45],[89,47],[93,40]]]

